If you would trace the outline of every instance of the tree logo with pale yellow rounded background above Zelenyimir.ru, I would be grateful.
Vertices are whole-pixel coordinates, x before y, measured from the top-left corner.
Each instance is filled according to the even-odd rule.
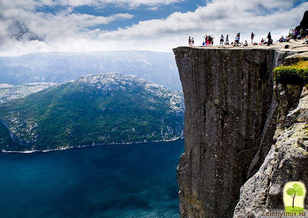
[[[302,182],[288,182],[283,191],[285,212],[292,215],[301,215],[304,212],[306,187]]]

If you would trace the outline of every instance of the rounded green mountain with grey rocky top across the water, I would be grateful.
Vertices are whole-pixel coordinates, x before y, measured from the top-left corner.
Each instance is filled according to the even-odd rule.
[[[180,92],[137,76],[86,75],[0,104],[2,126],[7,127],[0,134],[0,149],[172,140],[183,136],[183,114]]]

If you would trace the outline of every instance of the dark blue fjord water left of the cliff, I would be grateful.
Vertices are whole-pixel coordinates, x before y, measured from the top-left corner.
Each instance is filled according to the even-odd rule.
[[[178,218],[183,140],[0,153],[0,218]]]

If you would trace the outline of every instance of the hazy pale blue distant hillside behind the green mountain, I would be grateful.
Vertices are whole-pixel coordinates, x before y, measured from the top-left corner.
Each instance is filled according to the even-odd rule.
[[[182,90],[172,53],[114,51],[39,53],[0,57],[0,83],[62,83],[80,75],[118,72],[137,75],[170,90]]]

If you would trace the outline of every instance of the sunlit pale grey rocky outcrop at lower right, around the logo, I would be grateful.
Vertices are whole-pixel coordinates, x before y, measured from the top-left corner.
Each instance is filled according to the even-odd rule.
[[[282,91],[277,95],[283,96],[285,93]],[[264,211],[283,211],[282,190],[285,183],[302,181],[308,184],[307,87],[303,88],[297,108],[291,110],[284,120],[287,121],[284,122],[286,129],[281,131],[278,128],[276,131],[276,144],[272,146],[260,170],[240,189],[240,200],[233,218],[256,218],[262,217]],[[308,198],[305,201],[307,207]]]

